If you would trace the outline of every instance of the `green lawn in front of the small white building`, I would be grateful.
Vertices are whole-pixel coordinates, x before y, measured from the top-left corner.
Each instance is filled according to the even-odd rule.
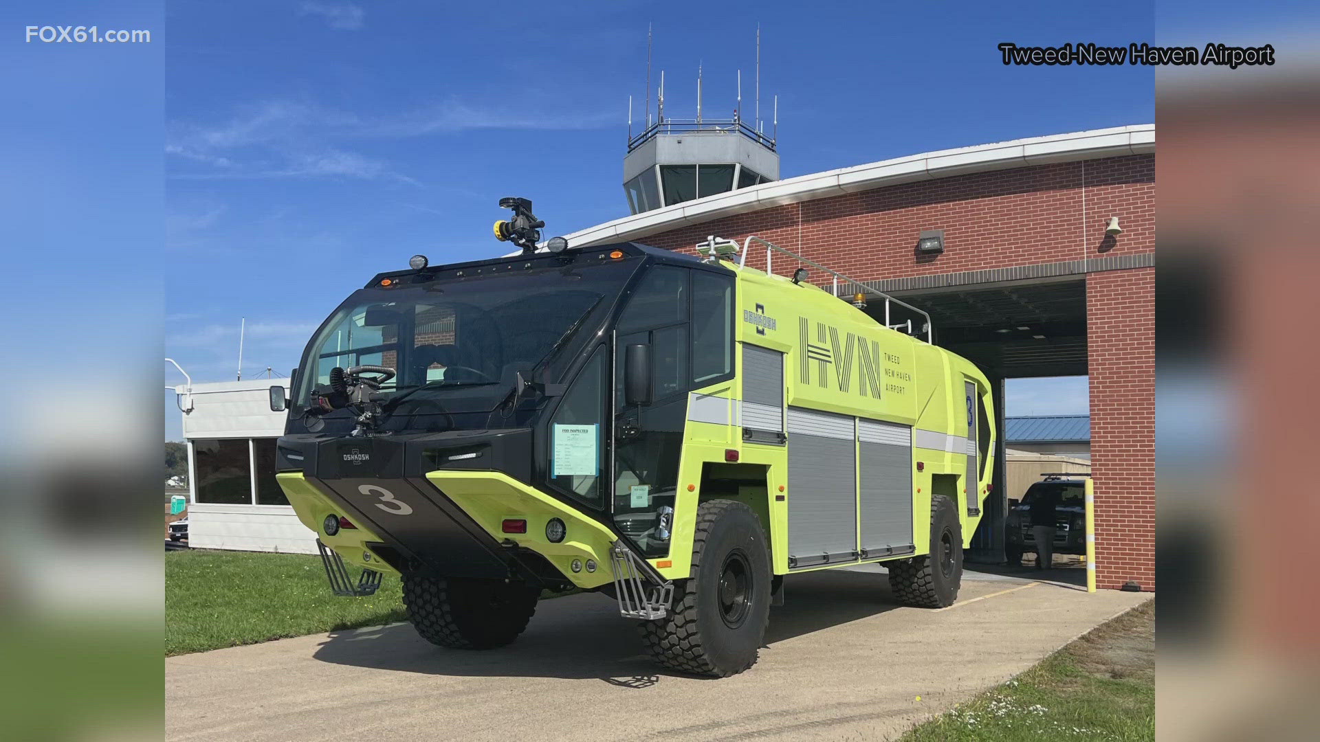
[[[166,656],[397,621],[397,577],[384,577],[375,595],[342,598],[330,593],[319,556],[165,553]]]

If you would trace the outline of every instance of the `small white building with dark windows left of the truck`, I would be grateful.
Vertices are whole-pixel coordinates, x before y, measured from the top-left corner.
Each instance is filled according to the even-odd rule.
[[[190,547],[317,553],[317,535],[275,479],[286,413],[271,412],[269,388],[281,382],[288,391],[288,379],[193,386],[193,411],[183,415]]]

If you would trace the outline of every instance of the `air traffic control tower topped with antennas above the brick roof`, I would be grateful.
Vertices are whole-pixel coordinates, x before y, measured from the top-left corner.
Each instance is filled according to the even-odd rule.
[[[656,118],[651,118],[649,94],[642,133],[632,135],[631,115],[628,116],[623,189],[634,214],[779,180],[779,152],[775,149],[777,99],[771,132],[767,135],[759,116],[754,116],[751,121],[742,118],[741,77],[739,74],[738,106],[731,119],[702,118],[700,73],[697,118],[667,119],[664,73],[660,73]]]

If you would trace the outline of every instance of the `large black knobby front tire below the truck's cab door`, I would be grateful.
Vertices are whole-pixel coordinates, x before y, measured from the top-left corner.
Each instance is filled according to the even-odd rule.
[[[675,585],[669,615],[642,638],[671,669],[727,677],[756,663],[770,621],[770,549],[760,519],[734,500],[697,508],[690,580]]]

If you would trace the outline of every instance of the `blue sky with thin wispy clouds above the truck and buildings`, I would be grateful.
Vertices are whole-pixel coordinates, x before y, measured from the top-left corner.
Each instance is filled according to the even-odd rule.
[[[499,197],[532,198],[548,234],[626,214],[627,104],[640,119],[648,21],[665,111],[680,118],[694,112],[698,63],[708,116],[731,111],[739,69],[751,115],[760,22],[762,111],[777,94],[783,177],[1154,120],[1150,69],[1005,67],[997,49],[1152,41],[1150,3],[813,9],[170,4],[166,353],[194,380],[232,379],[246,317],[244,375],[288,374],[375,272],[417,252],[498,255]],[[1012,395],[1010,412],[1085,411],[1084,380],[1015,383]],[[172,407],[166,437],[178,437]]]

